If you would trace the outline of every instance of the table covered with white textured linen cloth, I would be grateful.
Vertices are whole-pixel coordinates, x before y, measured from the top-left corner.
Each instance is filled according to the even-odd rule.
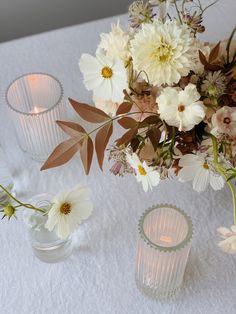
[[[203,38],[226,38],[234,26],[235,12],[234,0],[217,4],[207,13],[209,32]],[[127,17],[119,18],[124,23]],[[44,264],[32,255],[20,215],[17,221],[1,221],[0,313],[236,313],[236,256],[224,254],[216,245],[216,228],[232,223],[227,188],[197,194],[190,184],[166,181],[145,194],[133,176],[112,176],[107,162],[102,174],[95,161],[86,177],[79,158],[39,172],[40,164],[23,154],[16,143],[4,104],[10,81],[26,72],[48,72],[62,81],[66,96],[90,102],[78,58],[82,52],[94,53],[99,33],[108,31],[112,21],[114,18],[0,45],[0,142],[18,196],[27,199],[45,191],[56,193],[81,182],[91,187],[94,200],[92,217],[78,231],[77,249],[58,264]],[[178,300],[164,304],[143,296],[134,281],[138,218],[160,202],[175,203],[191,215],[195,225],[182,292]]]

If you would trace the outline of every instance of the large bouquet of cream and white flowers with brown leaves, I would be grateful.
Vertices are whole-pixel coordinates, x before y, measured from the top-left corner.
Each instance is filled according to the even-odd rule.
[[[131,4],[129,29],[113,25],[101,34],[96,55],[83,54],[79,61],[95,107],[69,101],[82,119],[98,125],[86,132],[78,123],[57,121],[70,138],[55,148],[42,170],[60,166],[80,151],[88,174],[95,147],[101,169],[108,149],[111,172],[134,175],[144,191],[173,176],[192,181],[197,192],[208,186],[218,191],[227,183],[234,226],[219,228],[219,246],[235,253],[236,29],[217,44],[198,40],[205,31],[204,12],[213,4]],[[124,131],[108,147],[114,122]]]

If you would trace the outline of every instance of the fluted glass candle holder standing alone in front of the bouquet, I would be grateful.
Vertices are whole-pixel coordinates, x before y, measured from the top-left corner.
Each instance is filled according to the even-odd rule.
[[[139,221],[136,283],[149,296],[173,297],[180,288],[191,248],[191,219],[172,205],[153,206]]]

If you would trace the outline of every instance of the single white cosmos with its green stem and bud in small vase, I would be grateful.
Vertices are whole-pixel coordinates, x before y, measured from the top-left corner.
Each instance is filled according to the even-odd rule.
[[[30,228],[40,231],[44,226],[50,232],[56,233],[58,238],[68,238],[75,229],[92,213],[90,191],[86,186],[76,186],[56,195],[51,204],[45,207],[35,207],[32,204],[18,200],[5,187],[0,189],[8,196],[8,202],[2,205],[3,218],[16,218],[17,211],[24,208],[24,221]],[[46,216],[46,219],[42,219]]]

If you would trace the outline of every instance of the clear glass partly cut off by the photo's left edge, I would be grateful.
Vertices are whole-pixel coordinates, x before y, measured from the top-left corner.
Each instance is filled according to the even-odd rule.
[[[3,149],[0,145],[0,184],[6,188],[9,192],[13,192],[13,179],[11,177],[11,174],[9,172],[7,163],[6,163],[6,156],[3,152]],[[14,193],[13,193],[14,194]],[[0,207],[1,205],[6,205],[9,202],[10,198],[8,195],[0,189]]]

